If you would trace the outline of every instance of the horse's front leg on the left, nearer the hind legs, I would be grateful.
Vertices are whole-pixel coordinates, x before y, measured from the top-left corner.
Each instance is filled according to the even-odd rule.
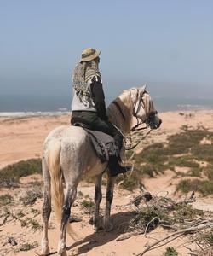
[[[93,218],[93,225],[95,230],[101,228],[101,218],[99,216],[99,208],[102,199],[101,193],[101,182],[102,182],[102,173],[95,178],[95,214]]]

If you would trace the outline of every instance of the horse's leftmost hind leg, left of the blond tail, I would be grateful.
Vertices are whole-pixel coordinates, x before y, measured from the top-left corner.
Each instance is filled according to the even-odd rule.
[[[51,183],[48,166],[46,161],[43,159],[43,238],[41,241],[42,255],[49,254],[49,241],[48,241],[48,222],[51,212]]]

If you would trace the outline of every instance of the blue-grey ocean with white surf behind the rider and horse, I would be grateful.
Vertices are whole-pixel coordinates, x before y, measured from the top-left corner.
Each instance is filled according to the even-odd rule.
[[[107,99],[107,104],[112,99]],[[160,112],[213,109],[213,99],[153,96]],[[0,117],[60,115],[71,112],[71,96],[0,96]]]

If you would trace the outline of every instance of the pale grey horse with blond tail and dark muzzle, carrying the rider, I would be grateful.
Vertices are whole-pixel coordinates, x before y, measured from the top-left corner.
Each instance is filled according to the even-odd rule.
[[[124,135],[130,133],[135,117],[141,123],[147,123],[151,129],[161,124],[161,119],[153,105],[153,100],[146,86],[124,90],[107,108],[107,116],[113,125]],[[83,175],[95,177],[95,229],[100,227],[99,208],[101,202],[101,179],[107,170],[107,162],[101,162],[96,156],[88,133],[80,126],[63,125],[50,131],[43,143],[43,237],[42,255],[49,254],[48,223],[53,200],[55,215],[60,220],[58,254],[66,255],[66,231],[71,236],[68,220],[73,202],[77,195],[78,183]],[[116,177],[111,177],[107,170],[107,201],[103,218],[104,228],[112,230],[110,212],[113,188]],[[65,188],[64,188],[65,187]],[[66,193],[64,195],[64,189]],[[72,236],[73,237],[73,236]]]

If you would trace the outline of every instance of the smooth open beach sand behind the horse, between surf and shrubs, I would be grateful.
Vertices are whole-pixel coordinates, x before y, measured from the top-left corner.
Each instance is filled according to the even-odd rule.
[[[155,142],[164,141],[182,125],[213,130],[213,110],[164,112],[159,116],[163,123],[159,130],[152,132]],[[60,125],[70,125],[70,115],[0,118],[0,168],[19,160],[41,157],[45,137]]]

